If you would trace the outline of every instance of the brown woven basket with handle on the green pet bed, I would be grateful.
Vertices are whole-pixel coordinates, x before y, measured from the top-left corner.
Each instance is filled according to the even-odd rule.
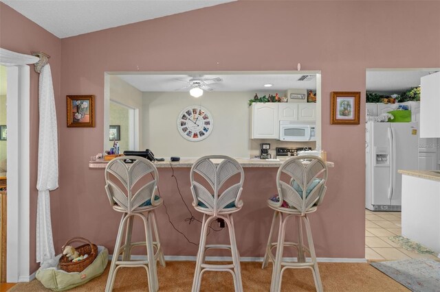
[[[75,250],[78,252],[78,254],[80,254],[80,256],[88,254],[89,256],[84,260],[79,260],[76,263],[72,263],[69,258],[63,254],[63,256],[60,258],[60,269],[67,271],[68,273],[83,271],[85,268],[89,267],[89,265],[94,262],[96,256],[98,256],[98,247],[83,237],[74,237],[73,239],[67,241],[67,243],[63,245],[63,250],[61,252],[64,251],[64,248],[67,245],[71,245],[70,243],[76,241],[86,243],[75,247]]]

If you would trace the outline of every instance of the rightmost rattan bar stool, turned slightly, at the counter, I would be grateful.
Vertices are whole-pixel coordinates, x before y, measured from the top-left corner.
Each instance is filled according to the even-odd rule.
[[[322,203],[327,186],[327,165],[318,156],[296,156],[286,160],[276,174],[276,187],[278,196],[267,200],[267,205],[274,209],[272,226],[270,227],[269,239],[267,240],[266,252],[263,260],[264,269],[269,260],[274,263],[272,270],[272,282],[270,291],[281,291],[283,272],[289,268],[311,269],[317,291],[322,291],[318,263],[316,261],[314,241],[311,236],[308,214],[315,212]],[[272,242],[275,221],[279,217],[278,241]],[[287,221],[296,217],[298,228],[298,243],[285,242]],[[307,242],[303,243],[303,225],[306,229]],[[298,251],[297,262],[283,261],[283,249],[285,246],[294,246]],[[276,247],[276,256],[272,249]],[[310,254],[311,263],[306,262],[305,252]]]

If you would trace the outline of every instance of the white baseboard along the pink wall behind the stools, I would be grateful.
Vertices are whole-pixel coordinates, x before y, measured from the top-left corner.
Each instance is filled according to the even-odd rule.
[[[109,254],[109,260],[111,260],[113,255]],[[133,260],[146,260],[146,256],[131,256]],[[172,261],[184,261],[190,260],[195,262],[195,256],[165,256],[165,260]],[[206,260],[208,261],[232,261],[230,256],[207,256]],[[365,258],[317,258],[319,263],[366,263]],[[241,256],[241,262],[263,262],[262,257],[252,257],[252,256]],[[294,262],[296,258],[285,258],[287,262]],[[311,259],[307,258],[307,261],[310,262]]]

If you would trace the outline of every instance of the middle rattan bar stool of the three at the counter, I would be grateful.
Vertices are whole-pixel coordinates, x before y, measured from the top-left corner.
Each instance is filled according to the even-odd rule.
[[[219,165],[214,165],[214,162],[219,162]],[[235,291],[243,291],[240,256],[236,248],[234,220],[232,219],[232,214],[241,210],[243,206],[240,199],[243,180],[243,168],[239,162],[228,156],[204,156],[192,165],[190,171],[191,193],[194,198],[192,206],[195,210],[203,213],[192,292],[200,290],[201,277],[205,271],[232,273]],[[230,184],[232,185],[229,186]],[[225,191],[222,186],[226,188]],[[210,188],[210,191],[206,187]],[[219,193],[219,191],[222,192]],[[218,218],[223,219],[228,225],[230,245],[206,244],[210,223]],[[232,264],[210,265],[205,263],[205,252],[210,249],[230,250]]]

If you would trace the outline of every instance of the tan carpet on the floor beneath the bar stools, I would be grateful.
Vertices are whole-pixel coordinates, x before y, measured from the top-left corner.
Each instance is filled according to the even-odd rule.
[[[409,291],[368,263],[319,263],[325,291]],[[83,286],[69,291],[104,291],[109,273],[104,273]],[[190,291],[195,262],[167,262],[158,267],[159,291]],[[244,291],[269,291],[272,264],[261,269],[261,263],[241,263]],[[50,291],[38,280],[19,283],[9,291]],[[122,268],[118,271],[113,291],[148,291],[143,268]],[[201,291],[234,291],[232,275],[228,272],[207,271],[203,274]],[[316,291],[309,269],[288,269],[283,275],[281,291]]]

